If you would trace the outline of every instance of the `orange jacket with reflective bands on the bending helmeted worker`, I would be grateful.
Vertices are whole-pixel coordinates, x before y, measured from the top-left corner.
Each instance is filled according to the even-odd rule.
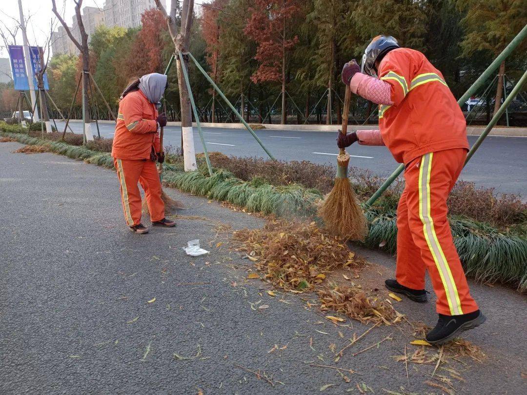
[[[443,75],[409,48],[390,51],[378,75],[391,85],[393,105],[379,105],[379,130],[399,163],[454,148],[469,148],[460,106]]]

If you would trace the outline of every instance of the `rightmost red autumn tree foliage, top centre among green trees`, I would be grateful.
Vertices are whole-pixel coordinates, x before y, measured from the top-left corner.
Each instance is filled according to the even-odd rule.
[[[285,52],[298,43],[298,36],[290,37],[287,30],[299,11],[298,0],[255,0],[249,9],[245,33],[258,44],[255,59],[260,64],[253,83],[282,80]]]

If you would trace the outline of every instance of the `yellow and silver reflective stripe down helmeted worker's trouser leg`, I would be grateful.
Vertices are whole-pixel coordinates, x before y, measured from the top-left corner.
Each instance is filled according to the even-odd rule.
[[[434,220],[430,214],[430,173],[432,170],[433,152],[423,155],[421,166],[419,167],[419,218],[423,223],[423,233],[425,235],[428,249],[432,254],[437,271],[441,276],[441,282],[445,289],[448,308],[452,315],[463,314],[461,302],[457,293],[456,284],[441,244],[437,240],[434,229]]]

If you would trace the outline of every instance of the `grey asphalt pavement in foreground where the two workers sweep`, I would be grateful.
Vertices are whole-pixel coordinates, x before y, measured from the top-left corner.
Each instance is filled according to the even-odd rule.
[[[337,363],[331,349],[370,325],[337,327],[307,308],[315,295],[278,291],[272,298],[266,283],[247,280],[251,262],[228,244],[217,246],[223,233],[213,226],[242,229],[260,219],[166,189],[187,205],[182,214],[206,220],[180,218],[175,229],[136,235],[124,225],[115,173],[50,153],[11,153],[19,146],[0,143],[0,393],[342,394],[359,393],[357,386],[362,393],[442,392],[426,383],[441,384],[426,376],[435,362],[408,363],[407,377],[404,363],[392,358],[405,345],[408,353],[417,350],[404,325],[375,328]],[[211,253],[187,256],[181,247],[192,239]],[[393,258],[359,252],[371,265],[356,281],[369,275],[368,287],[386,298],[381,284]],[[445,367],[463,378],[452,385],[456,393],[524,393],[525,297],[497,284],[470,285],[488,320],[466,339],[488,359],[451,360]],[[269,308],[251,309],[258,301]],[[432,325],[433,306],[396,304],[408,320]],[[375,346],[389,334],[392,340]],[[287,348],[269,352],[275,344]],[[310,363],[360,374],[345,372],[346,382]]]

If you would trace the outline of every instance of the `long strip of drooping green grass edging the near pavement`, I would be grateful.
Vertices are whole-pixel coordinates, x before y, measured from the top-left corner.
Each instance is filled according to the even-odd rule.
[[[0,130],[0,135],[12,137],[23,144],[44,145],[53,153],[114,170],[110,153],[31,137],[24,134],[20,126],[7,126],[2,125],[4,131]],[[299,184],[274,186],[258,178],[242,181],[222,169],[209,177],[206,169],[184,172],[181,166],[173,164],[165,165],[163,183],[184,192],[227,201],[250,212],[278,216],[314,216],[314,203],[322,197],[319,191],[306,189]],[[372,249],[395,253],[395,211],[372,209],[366,216],[369,232],[365,244]],[[454,243],[467,275],[483,282],[515,284],[519,291],[527,291],[527,239],[466,218],[452,217],[449,220]]]

